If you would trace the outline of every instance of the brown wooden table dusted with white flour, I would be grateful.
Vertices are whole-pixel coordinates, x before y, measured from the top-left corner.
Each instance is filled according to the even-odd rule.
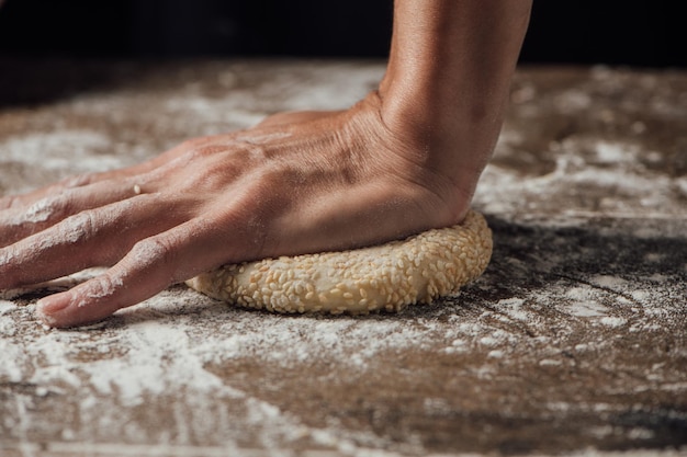
[[[345,107],[382,75],[0,60],[0,194]],[[687,453],[687,73],[522,68],[511,99],[474,199],[492,264],[460,296],[284,317],[177,286],[49,331],[36,299],[92,272],[5,292],[0,455]]]

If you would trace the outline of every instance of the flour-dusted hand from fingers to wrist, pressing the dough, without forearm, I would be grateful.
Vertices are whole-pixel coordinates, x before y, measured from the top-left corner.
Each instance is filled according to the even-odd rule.
[[[46,324],[77,325],[225,263],[455,224],[470,192],[424,149],[413,128],[387,128],[373,93],[347,111],[275,115],[133,168],[4,197],[0,289],[112,265],[38,304]]]

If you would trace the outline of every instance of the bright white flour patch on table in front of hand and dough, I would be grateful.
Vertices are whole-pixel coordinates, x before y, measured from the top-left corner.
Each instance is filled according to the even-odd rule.
[[[196,313],[179,313],[189,307],[204,308],[200,320]],[[19,308],[27,315],[27,321],[32,320],[31,308]],[[232,311],[181,289],[165,292],[137,308],[120,312],[124,324],[117,327],[48,332],[37,325],[24,328],[22,338],[25,341],[32,335],[32,343],[21,350],[11,349],[8,343],[2,345],[2,354],[12,363],[3,365],[0,378],[25,380],[38,386],[44,396],[78,396],[83,422],[76,438],[88,433],[83,425],[89,421],[98,430],[124,427],[124,419],[108,404],[143,407],[149,398],[182,391],[185,405],[177,423],[192,426],[194,436],[215,427],[230,430],[232,418],[221,419],[217,409],[217,404],[228,401],[247,408],[244,418],[260,424],[260,439],[309,436],[345,445],[345,439],[335,438],[326,427],[304,426],[278,407],[227,384],[207,370],[207,365],[258,357],[275,367],[295,367],[335,358],[345,363],[347,369],[363,373],[384,352],[421,347],[424,341],[443,332],[431,313],[413,322],[383,318],[281,318]],[[2,319],[4,316],[0,315],[0,323]],[[207,325],[221,325],[223,330],[210,331]],[[461,331],[455,329],[453,333],[459,335]],[[361,341],[365,343],[360,345]],[[199,414],[210,414],[215,422],[203,425]],[[125,435],[133,438],[136,433],[139,432],[131,430]],[[383,445],[372,435],[368,439]]]

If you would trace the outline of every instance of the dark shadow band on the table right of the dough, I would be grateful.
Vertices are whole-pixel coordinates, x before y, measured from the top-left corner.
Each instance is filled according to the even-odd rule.
[[[484,300],[544,290],[562,279],[585,283],[596,276],[665,281],[679,288],[687,282],[685,220],[599,217],[560,227],[498,217],[487,220],[494,252],[480,279],[482,287],[475,290]]]

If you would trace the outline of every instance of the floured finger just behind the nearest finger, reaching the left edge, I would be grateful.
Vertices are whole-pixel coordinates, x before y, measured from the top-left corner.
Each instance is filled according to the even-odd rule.
[[[139,195],[70,216],[0,249],[0,289],[36,284],[90,266],[111,265],[136,242],[188,218],[157,194]]]

